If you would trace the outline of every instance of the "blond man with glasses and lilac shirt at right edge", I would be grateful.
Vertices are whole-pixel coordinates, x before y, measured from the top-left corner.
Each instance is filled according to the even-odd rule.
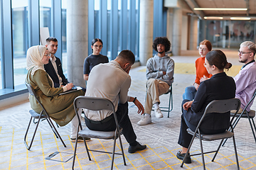
[[[245,63],[238,75],[235,76],[235,98],[241,101],[241,108],[239,113],[245,108],[247,103],[253,96],[256,87],[256,62],[255,62],[256,45],[254,42],[245,41],[240,44],[238,50],[239,62]],[[252,102],[250,103],[252,106]],[[250,106],[247,111],[250,111]]]

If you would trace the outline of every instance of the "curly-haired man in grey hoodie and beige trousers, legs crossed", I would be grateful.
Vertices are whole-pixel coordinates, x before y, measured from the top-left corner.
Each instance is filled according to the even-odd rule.
[[[168,38],[158,37],[155,38],[152,46],[158,53],[146,62],[146,79],[148,80],[146,81],[145,113],[138,125],[151,123],[153,105],[156,118],[163,118],[159,108],[159,96],[166,94],[174,82],[174,60],[165,54],[170,50],[171,42]]]

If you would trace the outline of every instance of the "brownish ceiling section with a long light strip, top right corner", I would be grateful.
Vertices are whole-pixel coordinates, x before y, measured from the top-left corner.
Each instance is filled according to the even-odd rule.
[[[185,0],[193,8],[248,8],[247,11],[195,11],[203,16],[252,16],[256,17],[256,0]]]

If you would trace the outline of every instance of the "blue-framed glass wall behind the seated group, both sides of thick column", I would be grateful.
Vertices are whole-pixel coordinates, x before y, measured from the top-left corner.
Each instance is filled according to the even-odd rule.
[[[4,0],[0,5],[0,100],[26,92],[26,51],[39,45],[40,28],[58,39],[56,56],[67,75],[67,0]],[[110,60],[132,50],[138,61],[139,0],[88,1],[88,55],[93,38],[102,39],[101,53]]]

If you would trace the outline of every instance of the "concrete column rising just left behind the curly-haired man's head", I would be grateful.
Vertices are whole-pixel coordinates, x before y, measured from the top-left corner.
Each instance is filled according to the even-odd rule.
[[[146,61],[153,55],[154,0],[140,0],[139,6],[139,62],[146,65]]]

